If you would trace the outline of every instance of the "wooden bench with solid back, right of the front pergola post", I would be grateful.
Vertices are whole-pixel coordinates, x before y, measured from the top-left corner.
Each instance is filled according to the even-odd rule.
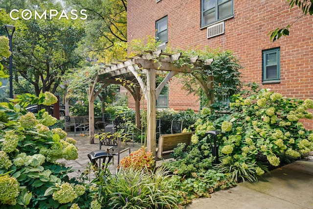
[[[156,152],[157,158],[162,158],[163,154],[173,152],[174,148],[179,143],[186,143],[186,146],[190,145],[191,136],[195,132],[177,133],[177,134],[164,134],[158,139],[158,149]]]

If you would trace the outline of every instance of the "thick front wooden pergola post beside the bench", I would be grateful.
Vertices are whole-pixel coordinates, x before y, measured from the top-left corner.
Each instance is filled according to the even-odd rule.
[[[147,70],[147,149],[156,156],[156,70]]]

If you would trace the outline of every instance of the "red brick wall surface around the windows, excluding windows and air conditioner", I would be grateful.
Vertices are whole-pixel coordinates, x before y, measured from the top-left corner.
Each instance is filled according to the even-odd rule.
[[[224,22],[225,33],[207,39],[206,28],[200,28],[200,4],[201,0],[128,0],[128,41],[155,36],[156,20],[167,15],[172,48],[230,49],[244,67],[244,82],[257,82],[289,97],[313,98],[312,16],[295,22],[301,10],[290,10],[287,0],[234,0],[234,18]],[[270,30],[293,22],[290,36],[275,43],[269,40]],[[273,47],[280,47],[281,83],[262,85],[262,50]]]

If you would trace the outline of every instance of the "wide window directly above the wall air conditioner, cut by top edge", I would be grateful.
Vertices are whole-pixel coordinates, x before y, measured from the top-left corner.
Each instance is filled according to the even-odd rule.
[[[233,16],[233,0],[201,0],[201,26]]]

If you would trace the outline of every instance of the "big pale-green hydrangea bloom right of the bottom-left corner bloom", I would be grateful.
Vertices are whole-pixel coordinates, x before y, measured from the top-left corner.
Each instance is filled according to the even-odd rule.
[[[52,198],[61,204],[70,203],[77,198],[73,187],[69,183],[64,183],[58,191],[52,194]]]

